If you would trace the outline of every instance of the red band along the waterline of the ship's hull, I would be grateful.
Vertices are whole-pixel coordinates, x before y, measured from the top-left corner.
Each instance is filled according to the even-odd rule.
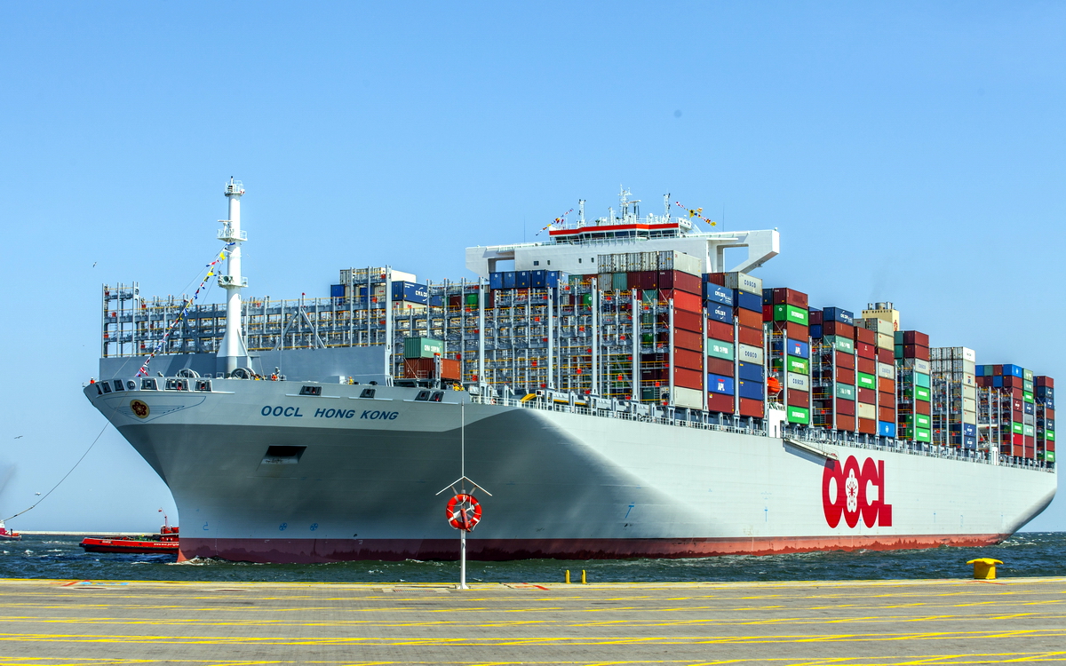
[[[723,539],[467,539],[471,559],[550,557],[710,557],[833,550],[904,550],[988,546],[1008,534],[771,537]],[[179,561],[222,557],[238,562],[321,563],[351,559],[457,559],[458,539],[195,539],[181,538]]]

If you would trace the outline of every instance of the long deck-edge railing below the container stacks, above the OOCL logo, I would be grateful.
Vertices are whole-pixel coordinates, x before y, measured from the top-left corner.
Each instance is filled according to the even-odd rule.
[[[536,399],[522,401],[519,397],[491,397],[488,395],[471,395],[470,400],[480,404],[491,404],[491,405],[503,405],[507,407],[518,407],[520,409],[538,409],[542,411],[558,411],[567,413],[577,413],[591,417],[599,417],[607,419],[618,419],[623,421],[634,421],[640,423],[653,423],[659,425],[673,425],[676,427],[689,427],[695,429],[704,431],[715,431],[721,433],[736,433],[740,435],[756,435],[768,437],[769,433],[765,427],[760,427],[757,425],[744,425],[739,420],[736,423],[713,423],[702,420],[693,419],[679,419],[669,418],[667,416],[658,416],[651,412],[652,409],[658,409],[652,406],[649,407],[649,413],[634,413],[629,409],[596,409],[593,407],[581,406],[577,403],[591,404],[592,400],[586,397],[577,397],[575,404],[568,404],[563,402],[556,402],[554,400]],[[1036,460],[1022,460],[1018,461],[1016,458],[1010,456],[1000,456],[998,461],[992,459],[992,456],[987,451],[972,451],[968,449],[956,449],[954,446],[942,446],[938,444],[908,441],[903,439],[892,439],[886,437],[876,437],[870,435],[861,435],[856,433],[843,433],[839,431],[829,431],[825,428],[789,428],[788,436],[791,438],[798,439],[801,441],[813,443],[813,444],[831,444],[836,446],[845,446],[849,449],[866,449],[871,451],[885,451],[892,453],[903,453],[908,455],[917,455],[932,458],[943,458],[950,460],[969,461],[973,464],[984,464],[984,465],[999,465],[1000,467],[1012,467],[1017,469],[1028,469],[1028,470],[1043,470],[1047,472],[1054,472],[1054,466],[1052,465],[1040,465]]]

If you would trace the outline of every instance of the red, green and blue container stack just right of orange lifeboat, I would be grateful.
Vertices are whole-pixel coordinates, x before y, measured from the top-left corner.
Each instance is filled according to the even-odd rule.
[[[810,425],[810,314],[807,294],[787,288],[764,289],[762,304],[762,319],[771,323],[769,367],[782,387],[778,402],[789,423]]]

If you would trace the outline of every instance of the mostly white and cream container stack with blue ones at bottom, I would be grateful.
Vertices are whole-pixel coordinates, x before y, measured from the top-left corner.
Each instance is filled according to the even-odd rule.
[[[932,347],[930,372],[933,443],[976,450],[976,353],[967,347]]]

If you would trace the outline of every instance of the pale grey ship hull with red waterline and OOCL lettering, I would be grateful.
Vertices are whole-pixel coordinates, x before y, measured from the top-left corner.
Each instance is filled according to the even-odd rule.
[[[326,385],[332,397],[300,397],[286,384],[86,391],[169,486],[189,525],[180,558],[455,558],[451,490],[436,493],[461,475],[464,448],[466,475],[491,493],[479,497],[473,559],[982,546],[1031,520],[1056,488],[1045,469],[893,448],[818,451],[566,406],[461,405],[459,392],[420,403],[382,387],[364,401],[360,387]],[[271,446],[303,449],[279,462]]]

